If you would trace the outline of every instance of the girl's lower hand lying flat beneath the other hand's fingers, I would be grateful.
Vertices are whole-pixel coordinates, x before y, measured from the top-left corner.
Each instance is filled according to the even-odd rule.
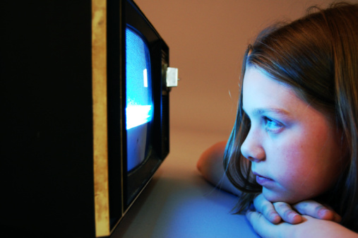
[[[302,215],[302,222],[297,225],[292,225],[287,222],[280,222],[275,225],[268,221],[261,213],[251,210],[246,212],[246,218],[251,223],[253,230],[263,238],[358,238],[357,233],[348,230],[336,222],[312,218],[309,215]]]

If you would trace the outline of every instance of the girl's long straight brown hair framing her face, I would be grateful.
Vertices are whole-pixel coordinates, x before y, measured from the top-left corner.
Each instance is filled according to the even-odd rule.
[[[246,66],[289,85],[296,95],[335,121],[347,145],[347,165],[338,182],[321,196],[340,215],[342,225],[358,230],[358,5],[332,4],[310,8],[304,18],[273,25],[261,32],[244,54]],[[251,174],[251,162],[240,152],[250,129],[242,109],[242,87],[237,119],[225,150],[227,177],[244,192],[239,212],[261,192]]]

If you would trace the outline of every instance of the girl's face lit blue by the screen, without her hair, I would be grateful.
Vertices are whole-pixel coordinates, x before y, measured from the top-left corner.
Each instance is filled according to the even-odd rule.
[[[268,201],[297,203],[330,188],[342,168],[340,135],[294,91],[246,68],[243,109],[251,127],[241,153]]]

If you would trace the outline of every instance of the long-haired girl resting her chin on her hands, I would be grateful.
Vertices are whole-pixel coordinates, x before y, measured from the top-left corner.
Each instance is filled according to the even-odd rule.
[[[241,85],[229,141],[203,153],[203,176],[225,173],[262,237],[358,237],[358,5],[261,32]]]

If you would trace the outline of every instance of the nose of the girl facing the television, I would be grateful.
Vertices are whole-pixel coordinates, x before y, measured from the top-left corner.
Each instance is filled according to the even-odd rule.
[[[244,143],[241,144],[241,154],[251,162],[265,160],[265,150],[262,147],[261,136],[250,129]]]

